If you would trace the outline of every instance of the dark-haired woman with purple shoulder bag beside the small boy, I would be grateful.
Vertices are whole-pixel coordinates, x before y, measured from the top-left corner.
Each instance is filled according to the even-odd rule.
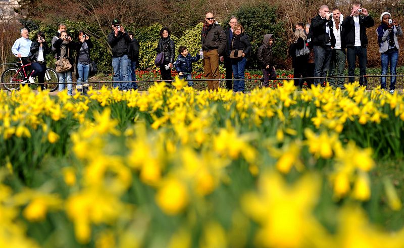
[[[170,38],[171,31],[169,28],[162,28],[160,30],[159,44],[157,45],[157,53],[164,53],[164,63],[160,66],[161,78],[163,80],[170,80],[171,84],[171,68],[173,68],[175,57],[175,43]]]

